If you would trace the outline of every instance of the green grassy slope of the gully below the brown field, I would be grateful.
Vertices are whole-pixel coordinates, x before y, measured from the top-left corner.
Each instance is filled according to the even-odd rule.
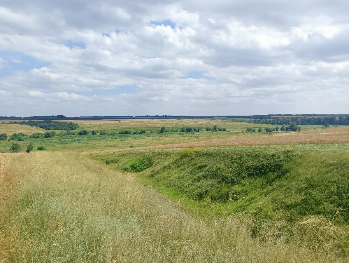
[[[153,161],[139,180],[166,196],[183,199],[200,215],[247,212],[273,219],[278,213],[294,222],[306,215],[334,217],[349,223],[349,146],[227,146],[116,152],[92,159],[119,160],[125,169],[133,158]],[[138,170],[134,170],[138,171]]]

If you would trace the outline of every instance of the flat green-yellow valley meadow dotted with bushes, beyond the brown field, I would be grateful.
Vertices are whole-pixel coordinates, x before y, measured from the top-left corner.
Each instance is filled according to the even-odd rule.
[[[35,149],[38,146],[44,146],[48,151],[79,151],[90,152],[100,150],[122,149],[132,147],[146,147],[156,145],[167,144],[179,144],[179,143],[192,143],[200,141],[209,141],[216,139],[231,139],[231,138],[249,138],[259,136],[271,136],[272,134],[282,134],[288,132],[257,132],[259,128],[265,127],[273,128],[275,125],[267,124],[250,124],[231,122],[230,120],[222,119],[159,119],[159,120],[122,120],[119,123],[118,120],[83,120],[76,121],[79,124],[79,130],[86,129],[91,134],[91,131],[95,130],[97,135],[95,136],[54,136],[51,138],[36,138],[25,141],[0,141],[0,151],[8,152],[10,146],[17,142],[24,149],[29,143],[33,143]],[[225,127],[227,131],[206,131],[205,127]],[[179,130],[181,127],[202,127],[201,132],[164,132],[164,133],[151,133],[151,131],[159,131],[164,126],[169,130]],[[246,132],[247,127],[256,129],[256,132]],[[301,131],[318,130],[322,129],[319,125],[304,125],[300,126]],[[113,134],[113,135],[99,135],[100,131],[107,133],[120,132],[124,130],[131,130],[131,132],[146,130],[145,134]],[[6,133],[8,137],[12,133],[22,132],[30,135],[34,132],[44,133],[46,130],[31,127],[28,125],[9,125],[0,124],[0,133]],[[56,131],[59,134],[61,131]]]

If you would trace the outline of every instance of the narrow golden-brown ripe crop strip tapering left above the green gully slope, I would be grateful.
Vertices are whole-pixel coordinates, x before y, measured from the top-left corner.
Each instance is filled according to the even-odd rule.
[[[285,144],[334,144],[349,143],[349,127],[338,127],[322,130],[300,131],[279,133],[270,136],[254,136],[245,138],[218,139],[210,141],[199,141],[181,144],[165,144],[147,147],[134,147],[124,149],[112,149],[106,151],[94,151],[88,153],[108,153],[122,151],[137,151],[149,149],[166,148],[193,148],[210,146],[229,146],[229,145],[285,145]]]

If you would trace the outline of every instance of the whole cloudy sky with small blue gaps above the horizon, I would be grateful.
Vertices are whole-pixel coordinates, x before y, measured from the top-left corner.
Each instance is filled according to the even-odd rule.
[[[0,2],[0,116],[349,114],[349,1]]]

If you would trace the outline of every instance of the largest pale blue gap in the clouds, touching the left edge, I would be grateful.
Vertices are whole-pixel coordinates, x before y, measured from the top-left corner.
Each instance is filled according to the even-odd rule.
[[[33,68],[50,66],[49,62],[40,61],[16,50],[0,50],[0,58],[5,60],[3,68],[0,68],[0,78],[13,76],[16,71],[28,72]]]

